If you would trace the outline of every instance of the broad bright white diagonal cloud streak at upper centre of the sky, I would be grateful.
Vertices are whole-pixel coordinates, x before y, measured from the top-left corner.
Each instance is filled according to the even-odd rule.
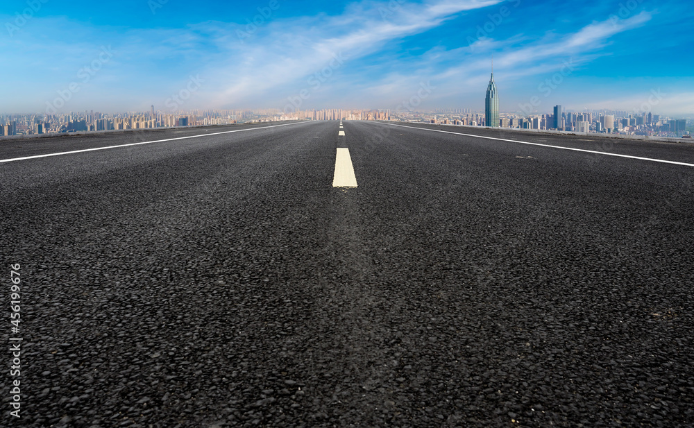
[[[273,89],[294,85],[294,93],[311,87],[306,76],[327,67],[341,55],[349,62],[378,51],[385,43],[439,26],[458,12],[483,8],[501,0],[441,1],[424,5],[362,3],[360,16],[348,8],[337,17],[301,19],[297,24],[271,22],[257,38],[234,48],[246,61],[232,62],[215,71],[214,79],[227,76],[226,87],[213,97],[214,105],[242,103]],[[394,3],[394,2],[391,2]],[[387,13],[383,12],[383,9]],[[281,106],[278,106],[281,107]]]

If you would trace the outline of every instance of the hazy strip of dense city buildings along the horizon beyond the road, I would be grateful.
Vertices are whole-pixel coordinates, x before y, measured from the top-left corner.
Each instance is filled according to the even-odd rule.
[[[558,108],[558,114],[557,114]],[[484,110],[441,108],[420,110],[321,109],[283,112],[261,110],[192,110],[181,112],[102,113],[85,111],[65,114],[0,114],[0,136],[65,132],[171,128],[178,126],[228,125],[233,123],[304,120],[366,120],[441,123],[458,126],[493,126],[527,130],[564,130],[654,137],[686,137],[694,132],[692,117],[670,117],[653,112],[625,110],[564,111],[561,105],[544,114],[499,112],[498,123],[488,124]],[[561,117],[559,123],[555,120]]]

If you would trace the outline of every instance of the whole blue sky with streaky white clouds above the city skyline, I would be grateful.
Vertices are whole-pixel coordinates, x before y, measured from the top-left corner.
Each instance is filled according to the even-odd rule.
[[[692,114],[691,22],[668,0],[2,0],[0,112],[61,94],[59,111],[395,109],[418,93],[421,110],[481,110],[493,55],[502,111]]]

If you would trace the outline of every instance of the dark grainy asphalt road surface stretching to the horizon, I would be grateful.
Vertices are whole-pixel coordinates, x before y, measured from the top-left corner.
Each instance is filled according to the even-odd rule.
[[[1,426],[694,425],[694,146],[272,125],[0,141]]]

